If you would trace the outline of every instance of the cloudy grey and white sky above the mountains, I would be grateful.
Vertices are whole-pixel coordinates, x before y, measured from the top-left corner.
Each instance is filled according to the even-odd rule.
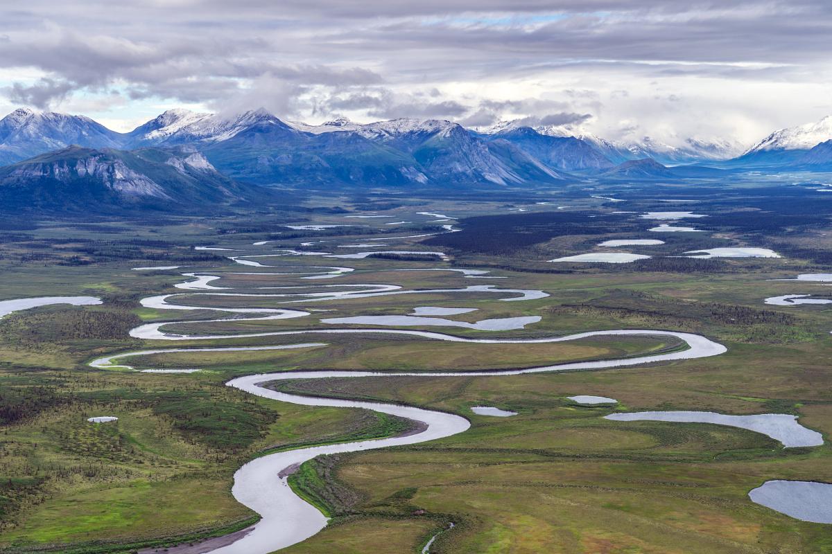
[[[4,0],[0,111],[265,107],[750,145],[832,114],[832,2]]]

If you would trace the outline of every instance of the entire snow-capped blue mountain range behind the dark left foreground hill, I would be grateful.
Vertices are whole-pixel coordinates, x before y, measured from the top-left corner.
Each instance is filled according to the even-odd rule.
[[[832,135],[832,116],[776,131],[740,158],[724,163],[729,167],[747,164],[820,170],[825,162],[812,157],[800,161],[808,149],[784,150],[775,145],[802,147],[824,138],[827,132]],[[126,151],[187,147],[201,152],[206,163],[230,179],[293,187],[505,187],[557,184],[605,171],[632,179],[654,179],[661,174],[655,166],[617,165],[652,159],[681,168],[723,160],[735,148],[729,141],[693,138],[681,147],[649,137],[625,145],[578,133],[570,125],[530,126],[522,120],[480,131],[449,120],[415,118],[359,124],[338,117],[322,125],[308,125],[280,120],[263,108],[234,114],[166,110],[127,133],[108,130],[83,115],[27,108],[0,120],[0,165],[72,144]],[[676,176],[700,173],[676,172]]]

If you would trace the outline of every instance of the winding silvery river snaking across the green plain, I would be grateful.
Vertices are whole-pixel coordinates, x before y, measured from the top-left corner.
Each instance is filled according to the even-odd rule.
[[[238,261],[238,260],[235,260]],[[329,274],[326,270],[332,268],[320,268],[323,271],[321,274]],[[437,268],[438,269],[438,268]],[[314,271],[314,270],[313,270]],[[474,273],[477,270],[466,270],[466,273]],[[236,317],[237,314],[243,314],[250,317],[242,319],[233,319],[228,321],[245,321],[254,319],[285,319],[290,317],[308,317],[312,314],[310,311],[290,310],[285,308],[259,308],[259,307],[236,307],[236,308],[213,308],[205,306],[192,306],[185,303],[180,303],[178,297],[194,297],[194,296],[233,296],[239,297],[245,302],[245,297],[275,297],[275,300],[282,303],[289,302],[316,302],[325,300],[344,300],[349,298],[365,298],[374,296],[385,296],[390,294],[418,294],[425,292],[433,293],[453,293],[462,294],[466,292],[489,292],[507,296],[500,299],[506,301],[523,301],[532,300],[542,297],[547,297],[547,293],[542,291],[529,291],[524,289],[511,288],[496,288],[491,285],[488,286],[474,286],[464,287],[459,289],[429,289],[429,290],[404,290],[398,285],[384,285],[384,284],[349,284],[344,286],[324,286],[314,287],[314,292],[306,292],[305,288],[310,287],[260,287],[260,288],[284,288],[287,292],[279,293],[235,293],[235,292],[215,292],[222,289],[222,287],[215,287],[210,285],[210,282],[215,282],[221,276],[205,275],[200,273],[183,274],[187,278],[186,282],[180,283],[179,288],[185,288],[191,291],[198,292],[183,292],[179,294],[168,294],[156,297],[147,297],[141,301],[142,306],[152,307],[156,309],[173,309],[173,310],[196,310],[196,309],[215,309],[216,311],[229,312],[231,317]],[[298,290],[301,289],[301,290]],[[324,289],[323,291],[321,289]],[[329,290],[333,289],[333,290]],[[334,290],[337,289],[337,290]],[[230,290],[230,289],[222,289]],[[292,292],[288,292],[288,291]],[[463,309],[446,309],[443,313],[453,315],[453,313],[461,313]],[[430,311],[428,311],[430,312]],[[428,312],[425,312],[427,315]],[[418,313],[418,312],[416,312]],[[432,313],[432,312],[431,312]],[[421,315],[421,314],[420,314]],[[441,323],[442,321],[435,321],[438,318],[408,316],[411,317],[407,323],[415,323],[418,320],[424,320],[427,325]],[[534,318],[537,321],[537,317]],[[211,321],[225,321],[224,319],[205,320]],[[450,321],[450,320],[448,320]],[[192,325],[200,321],[189,321]],[[335,323],[336,321],[331,321]],[[342,323],[348,321],[341,321]],[[367,322],[370,322],[369,320]],[[382,323],[382,321],[375,321]],[[522,322],[532,322],[531,320]],[[386,323],[386,321],[384,321]],[[567,342],[577,341],[579,339],[591,338],[594,336],[672,336],[681,341],[684,341],[687,348],[681,351],[665,352],[655,355],[642,355],[632,358],[612,359],[612,360],[595,360],[584,362],[572,362],[556,365],[544,365],[540,367],[526,368],[522,370],[494,370],[494,371],[472,371],[465,372],[464,375],[522,375],[527,373],[539,373],[549,371],[567,371],[567,370],[599,370],[612,367],[626,367],[645,365],[652,362],[672,361],[672,360],[691,360],[694,358],[701,358],[712,355],[720,355],[726,351],[725,346],[711,341],[704,336],[694,335],[691,333],[681,333],[674,331],[653,331],[653,330],[617,330],[617,331],[590,331],[584,333],[577,333],[570,336],[552,336],[535,339],[499,339],[499,338],[479,338],[468,336],[455,336],[435,331],[422,330],[408,330],[408,329],[356,329],[356,328],[334,328],[334,329],[307,329],[298,331],[269,331],[260,333],[242,333],[236,335],[194,335],[181,334],[176,332],[162,331],[162,326],[176,325],[176,322],[166,323],[150,323],[136,327],[131,331],[131,336],[164,341],[181,341],[181,340],[208,340],[219,338],[241,338],[252,336],[334,336],[334,335],[392,335],[392,336],[414,336],[421,339],[429,339],[433,341],[450,341],[450,342],[471,342],[481,344],[541,344],[552,342]],[[502,329],[514,328],[515,326],[498,326]],[[476,327],[475,327],[476,328]],[[484,326],[483,329],[487,329]],[[153,349],[146,351],[131,351],[116,355],[109,355],[97,360],[92,360],[90,365],[97,368],[115,368],[132,369],[130,365],[126,365],[126,359],[150,354],[164,354],[166,352],[188,352],[188,351],[267,351],[277,349],[290,348],[311,348],[311,347],[325,347],[325,342],[300,342],[297,344],[280,345],[280,346],[235,346],[235,347],[206,347],[206,348],[171,348],[171,349]],[[442,439],[445,437],[459,434],[468,429],[470,423],[468,419],[456,415],[438,412],[435,410],[421,409],[414,406],[404,406],[399,404],[386,404],[376,402],[364,402],[358,400],[334,400],[329,398],[314,397],[314,396],[300,396],[290,395],[275,390],[270,390],[263,386],[265,383],[275,380],[308,380],[308,379],[327,379],[330,377],[395,377],[395,376],[425,376],[425,377],[452,377],[460,375],[455,371],[427,371],[427,372],[382,372],[382,371],[287,371],[272,374],[248,375],[239,377],[228,381],[226,385],[235,387],[236,389],[244,390],[252,395],[261,396],[273,400],[280,400],[282,402],[289,402],[292,404],[302,404],[311,406],[335,406],[344,408],[362,408],[372,409],[374,411],[393,414],[399,417],[412,419],[418,422],[418,431],[412,434],[405,434],[398,437],[390,437],[387,439],[364,440],[343,444],[329,444],[325,446],[316,446],[305,449],[295,449],[285,452],[272,453],[261,458],[256,458],[249,463],[246,463],[240,468],[234,477],[234,487],[232,493],[234,497],[245,506],[260,514],[260,522],[255,526],[250,527],[248,532],[241,533],[240,537],[235,542],[215,548],[208,552],[213,554],[265,554],[266,552],[274,552],[280,548],[288,547],[297,542],[303,541],[308,537],[313,536],[326,526],[327,518],[319,512],[315,507],[306,503],[303,499],[295,495],[287,483],[287,478],[292,471],[297,468],[300,463],[315,458],[320,454],[331,453],[348,453],[369,449],[382,449],[389,446],[403,445],[403,444],[418,444],[429,440]]]

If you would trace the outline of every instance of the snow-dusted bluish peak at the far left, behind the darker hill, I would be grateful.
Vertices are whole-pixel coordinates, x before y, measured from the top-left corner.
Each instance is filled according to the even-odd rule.
[[[0,165],[82,145],[119,148],[123,137],[83,115],[18,108],[0,120]]]

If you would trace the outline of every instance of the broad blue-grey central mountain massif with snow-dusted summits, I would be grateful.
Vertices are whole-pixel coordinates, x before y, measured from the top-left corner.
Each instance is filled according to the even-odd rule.
[[[194,144],[218,169],[262,184],[506,185],[568,178],[511,144],[489,145],[446,120],[359,125],[341,118],[306,125],[259,113],[244,130]]]

